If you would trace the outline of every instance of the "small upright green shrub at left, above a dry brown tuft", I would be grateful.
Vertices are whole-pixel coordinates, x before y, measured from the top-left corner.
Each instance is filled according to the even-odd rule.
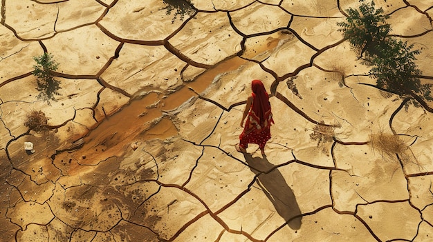
[[[36,90],[39,91],[37,95],[38,99],[47,101],[50,104],[50,100],[55,101],[55,95],[58,95],[57,90],[60,89],[60,81],[57,81],[53,72],[57,70],[58,63],[55,62],[53,56],[44,52],[39,57],[33,57],[36,61],[36,65],[33,65],[33,74],[36,79]]]

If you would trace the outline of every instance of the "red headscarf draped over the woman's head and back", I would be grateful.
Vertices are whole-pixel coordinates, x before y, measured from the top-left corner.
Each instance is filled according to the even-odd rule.
[[[260,126],[264,127],[269,115],[272,115],[270,112],[269,95],[261,81],[253,80],[251,86],[253,100],[251,110],[257,115],[257,118],[259,119],[257,122]],[[272,117],[270,118],[270,122],[273,123]],[[268,123],[268,125],[270,125],[270,123]]]

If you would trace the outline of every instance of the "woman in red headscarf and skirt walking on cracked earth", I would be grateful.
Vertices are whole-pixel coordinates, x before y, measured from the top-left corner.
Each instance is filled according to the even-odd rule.
[[[252,93],[246,101],[246,107],[243,111],[241,127],[243,121],[248,115],[243,132],[239,135],[239,145],[236,145],[238,152],[246,152],[248,143],[259,145],[261,154],[265,155],[265,145],[270,139],[270,125],[274,123],[268,92],[259,80],[251,82]]]

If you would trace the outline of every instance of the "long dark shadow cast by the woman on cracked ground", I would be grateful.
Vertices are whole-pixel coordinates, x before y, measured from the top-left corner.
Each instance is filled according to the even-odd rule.
[[[301,228],[302,216],[299,205],[293,194],[292,189],[286,183],[283,175],[277,168],[271,172],[264,173],[275,167],[268,161],[266,156],[252,157],[251,154],[243,154],[246,163],[250,165],[250,170],[258,174],[257,184],[263,190],[264,194],[273,203],[279,216],[286,221],[287,225],[293,230]],[[259,172],[261,171],[261,172]]]

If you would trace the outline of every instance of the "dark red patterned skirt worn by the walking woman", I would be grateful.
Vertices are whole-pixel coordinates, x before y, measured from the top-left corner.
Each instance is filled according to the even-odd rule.
[[[250,115],[250,114],[249,114]],[[249,116],[248,115],[248,116]],[[239,145],[246,149],[248,148],[248,143],[255,143],[259,145],[260,149],[264,149],[266,142],[270,139],[270,126],[267,125],[261,130],[257,130],[251,125],[250,117],[246,119],[245,126],[241,135],[239,135]]]

